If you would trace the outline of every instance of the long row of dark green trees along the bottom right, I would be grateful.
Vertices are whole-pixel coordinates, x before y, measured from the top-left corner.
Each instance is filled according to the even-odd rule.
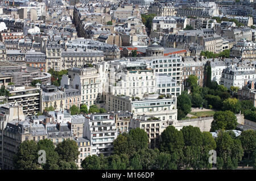
[[[246,162],[255,165],[255,131],[244,131],[236,137],[233,132],[220,130],[214,138],[210,132],[201,132],[191,125],[178,131],[167,127],[162,141],[155,149],[148,148],[147,133],[140,128],[119,134],[114,140],[114,154],[86,157],[84,170],[178,170],[178,169],[236,169]],[[217,151],[217,163],[209,163],[209,151]]]

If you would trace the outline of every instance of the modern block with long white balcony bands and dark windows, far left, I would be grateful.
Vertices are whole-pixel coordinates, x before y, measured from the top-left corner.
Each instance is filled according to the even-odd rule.
[[[10,91],[10,96],[7,96],[9,104],[20,104],[23,108],[24,115],[36,115],[41,110],[41,92],[39,88],[11,85],[6,86]]]

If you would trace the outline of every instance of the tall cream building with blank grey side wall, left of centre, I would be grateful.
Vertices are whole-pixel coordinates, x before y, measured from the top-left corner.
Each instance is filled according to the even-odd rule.
[[[96,68],[71,68],[68,75],[63,75],[61,86],[71,85],[80,91],[82,104],[87,106],[96,104],[101,99],[101,79]]]

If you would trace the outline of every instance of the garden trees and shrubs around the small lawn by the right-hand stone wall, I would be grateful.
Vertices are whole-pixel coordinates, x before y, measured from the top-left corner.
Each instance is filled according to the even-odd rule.
[[[210,67],[206,68],[207,79],[206,86],[200,87],[197,84],[197,77],[189,75],[186,82],[191,92],[181,92],[177,97],[177,119],[184,119],[191,112],[192,107],[204,107],[214,109],[212,122],[212,131],[219,129],[235,129],[237,126],[236,113],[244,113],[245,118],[256,120],[256,108],[250,100],[238,100],[238,87],[230,87],[226,89],[223,85],[218,85],[217,82],[211,81]],[[195,114],[193,114],[195,115]],[[195,116],[200,116],[195,115]],[[203,116],[202,116],[203,117]]]

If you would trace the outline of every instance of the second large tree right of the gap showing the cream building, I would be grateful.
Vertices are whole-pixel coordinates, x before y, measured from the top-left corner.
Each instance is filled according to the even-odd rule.
[[[203,137],[199,127],[185,126],[181,129],[185,146],[201,146]]]

